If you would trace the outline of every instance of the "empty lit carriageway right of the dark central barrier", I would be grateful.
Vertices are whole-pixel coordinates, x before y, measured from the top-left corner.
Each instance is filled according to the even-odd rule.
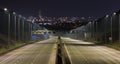
[[[90,42],[62,39],[71,64],[120,64],[120,51]]]

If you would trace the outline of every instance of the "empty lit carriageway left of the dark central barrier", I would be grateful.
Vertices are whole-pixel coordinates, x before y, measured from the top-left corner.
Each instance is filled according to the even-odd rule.
[[[23,46],[0,56],[0,64],[55,64],[57,38]]]

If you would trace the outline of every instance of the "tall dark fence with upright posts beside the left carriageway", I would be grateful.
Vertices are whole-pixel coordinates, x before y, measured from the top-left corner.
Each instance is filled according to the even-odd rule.
[[[0,9],[0,45],[31,40],[33,24],[6,8]]]

